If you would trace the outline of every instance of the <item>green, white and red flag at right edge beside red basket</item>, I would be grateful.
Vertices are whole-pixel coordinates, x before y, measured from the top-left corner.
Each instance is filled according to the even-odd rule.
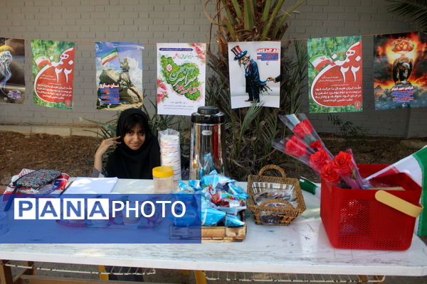
[[[370,175],[367,180],[375,177],[384,177],[394,173],[406,173],[414,182],[423,187],[421,192],[421,205],[427,207],[427,146],[421,150],[408,155],[408,157],[399,160],[393,165]],[[418,220],[418,236],[427,236],[427,210],[424,209]]]

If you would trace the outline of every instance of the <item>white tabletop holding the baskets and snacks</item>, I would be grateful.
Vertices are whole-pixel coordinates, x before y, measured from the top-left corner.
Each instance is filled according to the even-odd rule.
[[[246,188],[245,182],[240,185]],[[119,180],[113,192],[149,193],[152,180]],[[260,226],[248,217],[246,239],[241,242],[0,244],[0,259],[192,271],[427,275],[427,246],[418,236],[406,251],[334,249],[319,217],[318,197],[307,192],[304,197],[307,210],[290,226]]]

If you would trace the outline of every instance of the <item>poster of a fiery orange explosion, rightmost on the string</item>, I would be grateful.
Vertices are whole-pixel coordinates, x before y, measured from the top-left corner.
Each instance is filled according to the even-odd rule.
[[[427,35],[374,36],[375,109],[427,107]]]

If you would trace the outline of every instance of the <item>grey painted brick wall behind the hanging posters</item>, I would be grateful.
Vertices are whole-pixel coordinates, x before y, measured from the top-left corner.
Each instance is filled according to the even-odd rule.
[[[215,11],[212,2],[215,0],[207,6],[211,15]],[[293,4],[291,2],[288,5]],[[148,99],[154,101],[155,98],[155,43],[206,42],[210,28],[204,14],[205,0],[2,0],[2,3],[0,37],[73,41],[76,53],[74,108],[39,107],[32,99],[32,58],[27,42],[26,101],[23,104],[1,103],[0,124],[75,129],[88,124],[84,119],[113,119],[115,111],[95,109],[95,41],[143,43],[143,84],[148,95],[145,102],[154,112]],[[385,0],[307,0],[298,9],[300,13],[292,15],[285,39],[417,30],[416,26],[388,13],[386,4]],[[427,136],[426,108],[374,110],[372,37],[364,36],[363,45],[364,111],[338,114],[340,119],[366,127],[369,134],[376,136]],[[307,93],[302,97],[303,111],[307,111]],[[318,131],[337,131],[327,121],[327,114],[310,114],[310,119]]]

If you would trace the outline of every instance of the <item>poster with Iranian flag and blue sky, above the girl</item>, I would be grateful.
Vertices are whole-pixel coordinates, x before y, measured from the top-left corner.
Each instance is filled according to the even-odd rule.
[[[97,109],[141,107],[142,49],[141,43],[95,43]]]

